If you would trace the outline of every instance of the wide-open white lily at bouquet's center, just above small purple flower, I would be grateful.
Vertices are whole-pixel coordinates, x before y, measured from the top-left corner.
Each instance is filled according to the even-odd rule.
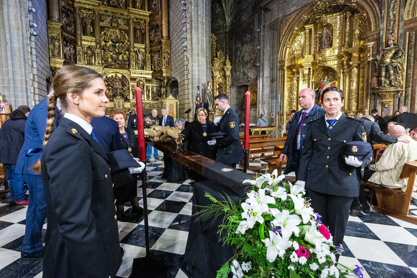
[[[300,229],[297,225],[301,223],[301,218],[298,215],[290,215],[289,210],[279,211],[277,208],[270,208],[269,210],[275,217],[271,223],[275,227],[281,228],[281,234],[284,238],[289,238],[293,232],[295,236],[299,236]]]

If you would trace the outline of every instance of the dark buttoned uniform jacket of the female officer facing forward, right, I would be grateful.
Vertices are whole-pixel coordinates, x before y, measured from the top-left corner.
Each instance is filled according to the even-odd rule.
[[[324,116],[307,123],[299,180],[307,189],[343,197],[359,196],[356,167],[346,164],[343,146],[351,141],[364,141],[362,120],[341,115],[329,133]]]

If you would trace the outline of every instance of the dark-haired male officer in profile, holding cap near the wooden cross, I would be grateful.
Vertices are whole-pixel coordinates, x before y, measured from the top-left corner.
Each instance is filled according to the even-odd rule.
[[[244,159],[243,147],[239,138],[239,118],[230,108],[229,98],[219,94],[214,98],[216,108],[223,112],[217,131],[226,133],[224,138],[209,140],[208,145],[218,147],[216,161],[236,168],[236,163]]]

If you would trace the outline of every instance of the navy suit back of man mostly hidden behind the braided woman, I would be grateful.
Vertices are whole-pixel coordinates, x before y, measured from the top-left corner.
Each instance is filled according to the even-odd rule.
[[[119,124],[106,116],[94,117],[91,120],[91,126],[98,139],[98,145],[108,153],[113,150],[121,150]]]

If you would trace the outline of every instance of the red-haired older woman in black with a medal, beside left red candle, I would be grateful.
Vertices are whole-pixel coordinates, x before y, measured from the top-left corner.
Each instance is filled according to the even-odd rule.
[[[121,109],[114,109],[110,112],[110,118],[115,120],[119,125],[120,143],[128,150],[134,158],[139,157],[138,140],[136,139],[135,132],[131,128],[125,128],[126,113]],[[117,219],[119,221],[127,221],[128,218],[124,214],[123,204],[130,201],[132,205],[132,213],[141,215],[143,214],[143,208],[139,206],[138,202],[138,174],[132,174],[133,180],[121,185],[120,187],[113,188],[114,198],[116,200]]]

